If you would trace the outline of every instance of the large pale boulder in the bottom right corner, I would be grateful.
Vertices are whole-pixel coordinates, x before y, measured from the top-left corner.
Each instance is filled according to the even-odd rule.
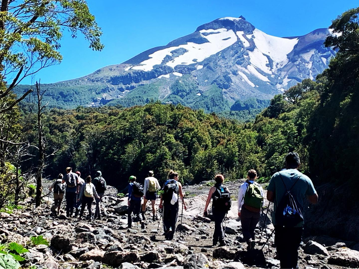
[[[347,247],[337,249],[336,252],[331,253],[328,264],[359,268],[359,251]]]

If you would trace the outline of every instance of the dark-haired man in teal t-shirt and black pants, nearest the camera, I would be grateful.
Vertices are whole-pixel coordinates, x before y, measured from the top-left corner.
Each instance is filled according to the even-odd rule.
[[[304,222],[299,222],[295,227],[284,227],[276,224],[275,211],[286,190],[290,190],[298,208],[303,212],[304,199],[307,197],[310,203],[318,202],[318,194],[314,189],[312,180],[300,173],[299,155],[290,152],[285,157],[286,169],[275,173],[267,187],[267,200],[274,203],[274,244],[277,249],[281,268],[298,268],[298,248],[302,241]],[[285,186],[284,186],[285,184]],[[292,189],[291,189],[292,188]]]

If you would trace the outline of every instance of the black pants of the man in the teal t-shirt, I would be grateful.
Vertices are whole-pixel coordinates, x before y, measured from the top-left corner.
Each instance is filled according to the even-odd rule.
[[[303,227],[275,226],[274,231],[280,268],[298,268],[298,248],[302,241]]]

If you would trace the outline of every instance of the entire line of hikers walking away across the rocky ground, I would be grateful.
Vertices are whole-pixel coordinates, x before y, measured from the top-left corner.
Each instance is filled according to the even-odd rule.
[[[272,175],[267,187],[266,198],[274,204],[272,223],[274,224],[274,243],[277,249],[278,259],[281,268],[298,268],[298,248],[302,241],[303,234],[303,207],[307,198],[310,203],[318,201],[318,195],[313,183],[308,176],[300,173],[299,155],[290,152],[285,157],[285,169]],[[55,209],[60,210],[61,200],[66,196],[66,216],[71,217],[74,207],[79,208],[81,204],[80,217],[87,206],[89,216],[92,215],[92,202],[96,199],[95,217],[100,217],[100,202],[106,190],[106,181],[102,178],[101,171],[97,171],[97,177],[91,182],[91,176],[86,178],[86,183],[81,185],[80,172],[73,173],[71,167],[66,168],[65,177],[62,174],[52,184],[54,189]],[[241,220],[243,239],[247,242],[247,250],[255,248],[255,228],[260,219],[264,206],[264,190],[256,182],[258,178],[254,169],[248,171],[247,180],[238,189],[238,217]],[[215,175],[215,184],[210,188],[204,216],[211,217],[214,221],[213,246],[225,246],[225,235],[223,221],[231,209],[231,194],[223,185],[224,176]],[[164,236],[166,240],[172,240],[176,230],[177,217],[179,212],[179,200],[182,200],[183,208],[187,210],[185,195],[182,185],[178,181],[178,173],[170,170],[167,180],[161,188],[158,180],[154,177],[153,171],[149,171],[144,185],[137,182],[136,176],[130,176],[128,185],[128,228],[132,227],[132,214],[134,221],[141,222],[144,228],[146,204],[150,200],[152,206],[152,220],[157,221],[157,193],[160,190],[159,209],[161,211]],[[77,199],[77,202],[76,202]],[[143,200],[143,203],[142,203]],[[208,213],[208,207],[212,200],[212,214]],[[269,208],[269,205],[268,207]],[[264,213],[264,212],[263,212]],[[268,211],[267,211],[268,213]],[[141,215],[141,216],[140,216]],[[160,220],[159,220],[160,221]],[[265,219],[264,219],[265,225]]]

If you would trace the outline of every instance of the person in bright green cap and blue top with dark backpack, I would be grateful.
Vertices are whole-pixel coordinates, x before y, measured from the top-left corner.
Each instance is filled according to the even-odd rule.
[[[137,178],[135,176],[130,176],[129,178],[129,210],[127,212],[127,228],[132,227],[132,216],[134,213],[134,221],[140,221],[140,210],[141,210],[141,199],[143,197],[143,186],[136,182]]]

